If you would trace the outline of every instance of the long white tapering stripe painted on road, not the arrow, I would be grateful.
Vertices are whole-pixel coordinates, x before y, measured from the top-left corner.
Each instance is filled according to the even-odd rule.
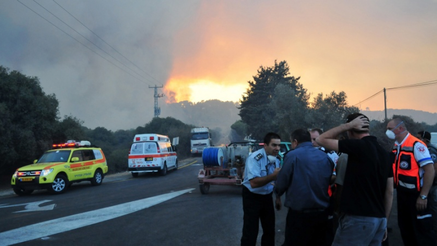
[[[129,213],[147,209],[153,205],[165,202],[171,198],[190,192],[192,190],[194,189],[186,189],[178,192],[157,195],[108,208],[78,213],[59,219],[49,220],[34,225],[1,232],[0,245],[7,246],[18,244],[37,238],[50,236],[56,233],[93,225],[102,221],[114,219]]]

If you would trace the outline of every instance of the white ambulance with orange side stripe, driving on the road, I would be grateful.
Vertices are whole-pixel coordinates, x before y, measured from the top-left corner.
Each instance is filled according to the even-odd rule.
[[[128,171],[132,176],[149,172],[159,172],[164,176],[169,169],[178,169],[178,157],[168,136],[135,135],[128,158]]]

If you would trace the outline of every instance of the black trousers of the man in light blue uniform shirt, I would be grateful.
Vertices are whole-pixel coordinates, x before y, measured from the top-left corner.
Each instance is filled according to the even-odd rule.
[[[252,193],[243,185],[243,235],[241,246],[255,246],[259,221],[263,228],[261,246],[275,245],[275,210],[272,193],[261,195]]]

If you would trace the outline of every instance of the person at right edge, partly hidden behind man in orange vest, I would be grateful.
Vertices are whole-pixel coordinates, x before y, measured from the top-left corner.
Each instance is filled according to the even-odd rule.
[[[437,148],[431,144],[431,133],[420,131],[417,133],[417,138],[423,141],[428,147],[429,155],[434,162],[434,173],[437,174]],[[434,176],[434,182],[428,193],[428,205],[433,215],[434,232],[437,234],[437,177]]]

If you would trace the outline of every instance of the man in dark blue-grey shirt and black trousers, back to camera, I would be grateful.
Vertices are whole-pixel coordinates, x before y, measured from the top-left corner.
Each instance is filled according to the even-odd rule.
[[[275,183],[277,197],[286,193],[288,208],[284,246],[324,245],[329,205],[328,186],[334,162],[314,148],[308,131],[291,133],[291,148]],[[277,208],[281,201],[276,200]]]

